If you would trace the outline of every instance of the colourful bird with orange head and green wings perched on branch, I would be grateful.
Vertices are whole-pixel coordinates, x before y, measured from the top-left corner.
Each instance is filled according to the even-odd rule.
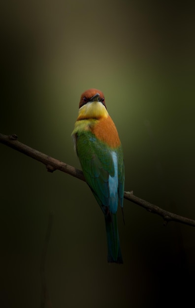
[[[117,208],[120,203],[123,212],[125,167],[121,141],[103,92],[89,89],[82,93],[71,135],[85,180],[104,214],[107,261],[122,264]]]

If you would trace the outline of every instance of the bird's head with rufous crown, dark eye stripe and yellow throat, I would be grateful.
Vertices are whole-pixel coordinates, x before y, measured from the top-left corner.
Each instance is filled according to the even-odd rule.
[[[89,89],[82,93],[79,102],[78,120],[106,118],[105,98],[103,92],[97,89]]]

